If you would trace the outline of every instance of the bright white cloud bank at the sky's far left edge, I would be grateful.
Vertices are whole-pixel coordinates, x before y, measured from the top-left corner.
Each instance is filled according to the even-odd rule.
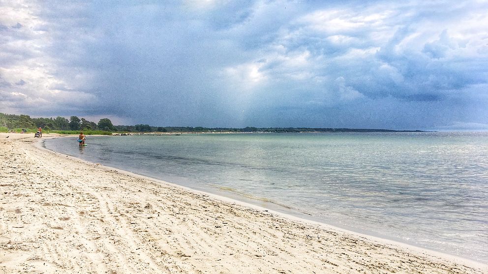
[[[60,41],[56,40],[52,22],[39,17],[40,13],[41,7],[35,2],[16,1],[0,6],[0,24],[11,26],[0,32],[4,41],[0,44],[0,76],[7,83],[0,87],[2,111],[63,111],[80,108],[87,101],[89,105],[96,102],[94,95],[76,90],[89,80],[77,80],[87,72],[73,75],[69,82],[60,77],[66,73],[64,60],[50,51]]]

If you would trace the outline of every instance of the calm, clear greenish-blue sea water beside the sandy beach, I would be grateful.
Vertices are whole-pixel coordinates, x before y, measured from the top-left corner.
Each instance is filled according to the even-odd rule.
[[[488,262],[488,133],[46,140],[61,153]]]

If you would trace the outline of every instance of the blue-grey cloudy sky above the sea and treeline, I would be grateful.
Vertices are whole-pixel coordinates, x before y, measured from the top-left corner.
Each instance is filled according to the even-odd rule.
[[[488,130],[486,0],[69,2],[0,0],[0,112]]]

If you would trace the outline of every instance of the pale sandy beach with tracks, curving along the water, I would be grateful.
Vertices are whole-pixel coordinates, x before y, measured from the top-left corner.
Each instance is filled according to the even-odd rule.
[[[488,273],[485,264],[81,161],[39,141],[0,134],[1,274]]]

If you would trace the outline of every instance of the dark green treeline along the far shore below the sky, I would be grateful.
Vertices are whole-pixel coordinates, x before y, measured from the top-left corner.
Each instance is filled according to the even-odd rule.
[[[299,133],[299,132],[399,132],[385,129],[347,129],[347,128],[204,128],[204,127],[154,127],[150,125],[114,126],[108,118],[94,123],[85,118],[71,116],[69,119],[58,116],[56,118],[30,118],[29,115],[15,115],[0,113],[0,132],[15,129],[35,130],[41,127],[44,131],[105,131],[105,132],[269,132],[269,133]],[[411,132],[411,131],[402,131]]]

